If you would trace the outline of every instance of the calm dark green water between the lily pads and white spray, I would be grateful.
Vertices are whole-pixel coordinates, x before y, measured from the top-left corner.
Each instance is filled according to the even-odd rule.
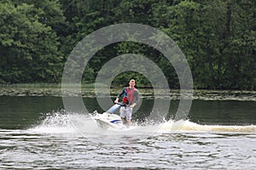
[[[84,98],[88,111],[102,112],[95,98]],[[189,120],[200,124],[251,125],[256,124],[255,101],[194,100]],[[153,99],[143,99],[134,119],[150,114]],[[178,101],[171,103],[170,113],[177,110]],[[63,109],[61,97],[52,96],[0,96],[0,128],[24,129],[37,125],[46,114]]]

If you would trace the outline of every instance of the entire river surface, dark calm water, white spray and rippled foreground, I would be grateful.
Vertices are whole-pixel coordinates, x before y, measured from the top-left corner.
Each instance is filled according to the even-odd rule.
[[[148,96],[134,114],[135,128],[116,130],[97,127],[90,114],[64,111],[58,95],[2,95],[0,168],[256,167],[255,93],[197,96],[187,120],[136,124],[150,112]],[[102,111],[93,96],[84,103]],[[173,110],[177,104],[172,99]]]

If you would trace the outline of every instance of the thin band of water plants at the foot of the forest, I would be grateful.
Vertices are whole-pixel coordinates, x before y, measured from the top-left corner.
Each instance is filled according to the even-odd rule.
[[[110,97],[115,97],[119,94],[120,88],[110,88]],[[61,87],[1,87],[0,96],[79,96],[83,98],[96,98],[95,88],[84,87],[78,88],[64,88],[65,94],[62,94]],[[166,94],[165,89],[154,89],[154,88],[139,88],[142,99],[180,99],[179,89],[170,89],[170,95]],[[102,95],[108,96],[102,88]],[[186,99],[186,93],[184,95]],[[188,93],[188,98],[189,93]],[[193,100],[239,100],[239,101],[256,101],[256,91],[246,90],[193,90]]]

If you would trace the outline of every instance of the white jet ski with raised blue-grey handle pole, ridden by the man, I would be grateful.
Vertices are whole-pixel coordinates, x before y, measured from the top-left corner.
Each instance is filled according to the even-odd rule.
[[[115,111],[117,111],[121,106],[125,106],[123,103],[117,103],[113,105],[108,111],[98,114],[96,113],[96,116],[93,117],[94,120],[96,120],[96,123],[98,127],[101,128],[123,128],[125,125],[123,125],[123,122],[121,121],[121,118],[119,115],[114,114]]]

